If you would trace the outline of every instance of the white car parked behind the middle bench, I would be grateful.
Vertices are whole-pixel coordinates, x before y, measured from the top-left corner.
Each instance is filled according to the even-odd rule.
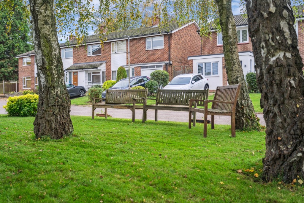
[[[163,89],[167,90],[206,90],[208,79],[201,73],[181,74],[174,77]]]

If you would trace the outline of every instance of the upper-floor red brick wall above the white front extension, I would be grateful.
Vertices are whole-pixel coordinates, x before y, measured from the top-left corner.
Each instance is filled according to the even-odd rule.
[[[252,51],[252,43],[249,37],[249,42],[237,44],[239,52]],[[217,45],[217,33],[212,32],[211,38],[202,37],[202,55],[207,54],[222,54],[223,45]]]

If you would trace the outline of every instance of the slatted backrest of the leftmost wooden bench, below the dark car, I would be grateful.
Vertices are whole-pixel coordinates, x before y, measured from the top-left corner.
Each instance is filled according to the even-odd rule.
[[[132,98],[142,98],[148,96],[148,89],[144,90],[107,90],[105,95],[106,104],[131,104]],[[143,99],[136,100],[142,103]]]

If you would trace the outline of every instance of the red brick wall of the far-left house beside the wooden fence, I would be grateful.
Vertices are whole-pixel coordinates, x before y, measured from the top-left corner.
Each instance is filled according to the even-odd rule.
[[[23,66],[23,58],[19,58],[19,91],[23,89],[23,77],[31,77],[31,89],[35,89],[35,56],[31,56],[31,65]]]

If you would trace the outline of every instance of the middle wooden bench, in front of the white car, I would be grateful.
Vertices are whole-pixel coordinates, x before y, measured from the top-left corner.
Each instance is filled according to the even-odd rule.
[[[147,120],[147,110],[155,110],[155,121],[157,121],[157,110],[167,111],[189,111],[190,99],[200,99],[201,102],[197,102],[195,107],[204,106],[205,99],[208,98],[207,90],[161,90],[158,89],[156,93],[156,99],[143,98],[143,123]],[[147,105],[147,100],[155,100],[155,105]],[[196,119],[196,113],[193,114]]]

